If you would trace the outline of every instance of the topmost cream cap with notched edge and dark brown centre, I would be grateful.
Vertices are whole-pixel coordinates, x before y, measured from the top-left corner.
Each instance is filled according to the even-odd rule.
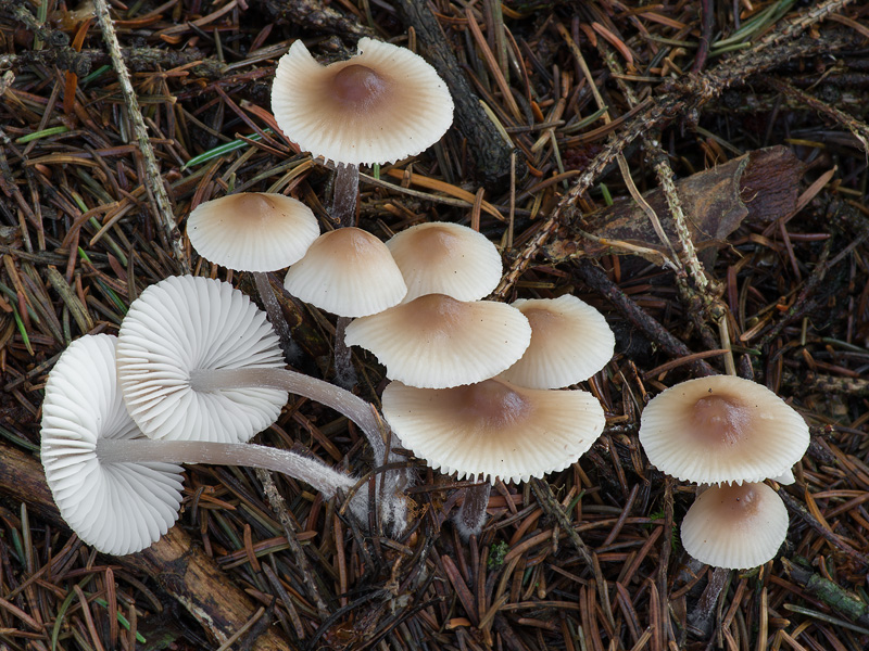
[[[440,140],[453,123],[446,85],[426,61],[370,38],[322,66],[297,40],[280,58],[272,111],[302,151],[345,165],[393,163]]]

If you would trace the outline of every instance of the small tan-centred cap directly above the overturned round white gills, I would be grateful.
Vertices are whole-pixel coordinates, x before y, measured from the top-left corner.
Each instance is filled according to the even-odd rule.
[[[237,271],[276,271],[302,259],[319,235],[305,204],[266,192],[239,192],[199,204],[187,218],[199,255]]]

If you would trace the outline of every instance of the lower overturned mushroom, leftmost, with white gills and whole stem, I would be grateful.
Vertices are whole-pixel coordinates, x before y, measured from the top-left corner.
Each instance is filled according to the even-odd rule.
[[[63,519],[99,551],[126,554],[158,540],[178,518],[178,463],[254,465],[307,482],[327,498],[354,477],[301,455],[243,444],[150,441],[121,397],[115,337],[86,335],[70,344],[46,383],[42,465]],[[351,509],[367,514],[366,496]]]

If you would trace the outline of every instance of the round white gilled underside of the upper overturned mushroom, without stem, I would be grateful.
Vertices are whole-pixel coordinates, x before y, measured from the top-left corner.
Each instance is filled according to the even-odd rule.
[[[265,312],[227,282],[169,277],[146,289],[121,323],[124,400],[150,438],[244,443],[268,427],[287,392],[191,386],[193,371],[241,368],[284,368],[284,356]]]

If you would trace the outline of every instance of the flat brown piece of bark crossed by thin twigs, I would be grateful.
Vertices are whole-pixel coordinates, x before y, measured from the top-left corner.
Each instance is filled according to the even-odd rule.
[[[803,164],[793,152],[772,146],[679,180],[676,188],[696,248],[726,245],[727,237],[744,220],[769,224],[790,215],[796,207],[802,174]],[[667,213],[660,189],[646,192],[643,197],[658,215]],[[565,221],[556,239],[542,250],[551,263],[610,253],[640,255],[658,263],[660,256],[644,253],[643,248],[666,253],[642,208],[630,199],[616,200],[610,207],[589,215],[571,207]],[[662,226],[676,240],[671,220],[663,219]],[[588,239],[584,233],[599,240]],[[620,246],[614,240],[634,246]]]

